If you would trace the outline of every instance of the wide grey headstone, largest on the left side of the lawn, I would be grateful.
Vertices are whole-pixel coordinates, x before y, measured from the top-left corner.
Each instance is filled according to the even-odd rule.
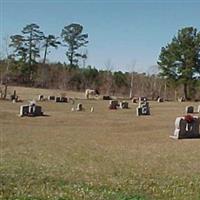
[[[43,116],[42,107],[37,106],[34,103],[30,103],[29,105],[20,106],[20,117],[28,116],[28,117],[36,117]]]

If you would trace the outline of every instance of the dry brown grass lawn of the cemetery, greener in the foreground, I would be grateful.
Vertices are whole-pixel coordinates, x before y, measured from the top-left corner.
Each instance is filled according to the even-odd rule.
[[[17,93],[28,100],[60,92]],[[86,110],[71,112],[69,103],[39,102],[48,116],[20,118],[26,102],[0,101],[0,199],[200,199],[200,139],[169,138],[175,118],[198,103],[150,102],[152,115],[136,117],[133,103],[111,111],[108,101],[76,100]]]

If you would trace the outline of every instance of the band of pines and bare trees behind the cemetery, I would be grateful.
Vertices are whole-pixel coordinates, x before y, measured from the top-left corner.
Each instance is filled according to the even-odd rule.
[[[187,100],[199,98],[200,32],[186,27],[178,31],[172,41],[161,48],[158,56],[160,73],[148,75],[137,72],[112,72],[95,67],[80,67],[85,63],[88,34],[83,26],[65,26],[60,37],[45,35],[37,24],[25,26],[21,34],[11,35],[12,51],[0,60],[1,82],[43,88],[62,88],[83,91],[99,89],[107,95],[157,96]],[[47,63],[52,48],[66,48],[68,64]],[[42,56],[43,53],[43,56]]]

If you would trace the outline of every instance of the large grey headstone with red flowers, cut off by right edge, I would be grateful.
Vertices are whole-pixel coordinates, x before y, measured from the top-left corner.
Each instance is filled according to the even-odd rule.
[[[186,115],[177,117],[175,120],[174,134],[170,136],[173,139],[199,138],[200,118],[198,116]]]

